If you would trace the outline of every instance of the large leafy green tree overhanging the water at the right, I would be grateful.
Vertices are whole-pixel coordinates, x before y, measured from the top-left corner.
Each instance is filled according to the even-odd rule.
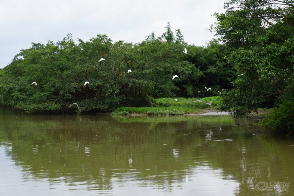
[[[275,107],[263,122],[268,131],[292,134],[294,123],[294,1],[229,0],[216,14],[216,35],[226,60],[238,70],[233,89],[222,93],[222,110],[236,117]]]

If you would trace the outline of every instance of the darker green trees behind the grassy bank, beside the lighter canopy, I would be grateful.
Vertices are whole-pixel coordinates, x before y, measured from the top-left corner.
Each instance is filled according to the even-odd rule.
[[[194,67],[189,77],[181,78],[176,85],[181,89],[178,97],[208,97],[218,95],[222,89],[230,89],[236,77],[236,70],[224,60],[225,46],[216,40],[207,47],[187,46],[188,54],[184,59]],[[206,91],[204,88],[211,88]],[[200,91],[200,92],[199,92]]]

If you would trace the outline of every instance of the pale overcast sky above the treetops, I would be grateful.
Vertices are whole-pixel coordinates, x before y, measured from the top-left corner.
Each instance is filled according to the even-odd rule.
[[[56,43],[67,34],[88,41],[106,34],[113,41],[138,43],[170,22],[188,44],[205,46],[206,30],[222,13],[224,0],[0,0],[0,68],[31,43]]]

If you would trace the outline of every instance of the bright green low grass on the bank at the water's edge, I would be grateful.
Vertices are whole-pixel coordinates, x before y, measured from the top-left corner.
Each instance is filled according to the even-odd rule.
[[[197,98],[159,98],[155,99],[153,107],[121,107],[111,113],[111,115],[184,115],[192,113],[200,113],[203,109],[218,109],[222,103],[219,96]],[[203,102],[197,102],[197,100]],[[195,102],[196,101],[196,102]],[[211,102],[211,105],[205,104]]]

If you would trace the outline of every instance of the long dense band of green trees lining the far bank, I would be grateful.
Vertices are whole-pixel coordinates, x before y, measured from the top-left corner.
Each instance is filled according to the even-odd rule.
[[[32,43],[0,70],[0,104],[26,112],[108,112],[148,106],[152,98],[204,97],[230,88],[235,74],[221,60],[224,46],[187,45],[180,29],[175,35],[170,23],[165,29],[165,43],[153,32],[136,44],[106,35],[75,43],[70,34],[57,43]],[[179,78],[172,80],[174,74]],[[205,86],[214,88],[207,92]]]

